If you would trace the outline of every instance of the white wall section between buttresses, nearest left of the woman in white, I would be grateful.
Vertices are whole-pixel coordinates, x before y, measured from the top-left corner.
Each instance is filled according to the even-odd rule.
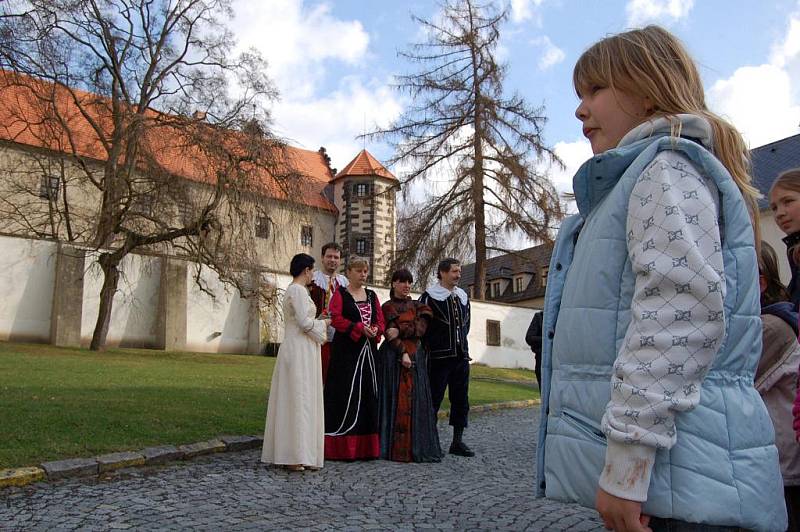
[[[206,353],[247,351],[250,302],[238,290],[226,287],[215,272],[203,268],[201,279],[214,297],[195,282],[196,267],[186,276],[186,349]]]

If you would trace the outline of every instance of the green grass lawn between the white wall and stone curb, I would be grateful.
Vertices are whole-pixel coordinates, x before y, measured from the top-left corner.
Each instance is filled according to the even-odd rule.
[[[0,468],[259,434],[274,365],[270,357],[0,343]],[[470,404],[538,397],[530,371],[473,366],[472,375]]]

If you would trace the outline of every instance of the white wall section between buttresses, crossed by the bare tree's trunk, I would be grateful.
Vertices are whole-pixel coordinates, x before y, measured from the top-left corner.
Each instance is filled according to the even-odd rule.
[[[100,309],[103,272],[91,254],[86,256],[83,285],[81,343],[89,345]],[[111,307],[108,347],[153,347],[156,345],[158,293],[161,286],[161,260],[158,257],[130,254],[120,263],[120,279]]]

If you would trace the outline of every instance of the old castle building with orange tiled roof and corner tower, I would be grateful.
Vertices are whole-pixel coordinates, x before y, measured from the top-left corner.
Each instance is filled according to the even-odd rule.
[[[0,197],[5,200],[0,206],[0,234],[90,245],[101,192],[87,176],[102,178],[106,153],[73,97],[98,123],[108,121],[108,102],[77,89],[58,89],[65,94],[71,91],[73,97],[55,100],[59,116],[66,118],[63,123],[50,123],[45,106],[37,105],[35,91],[46,92],[51,86],[29,78],[22,81],[25,83],[0,71]],[[167,115],[148,111],[149,119],[158,116]],[[67,131],[71,143],[62,139]],[[170,203],[168,200],[176,198],[145,194],[134,198],[131,194],[135,208],[158,211],[161,221],[170,223],[173,216],[177,224],[203,208],[215,179],[213,165],[202,154],[182,147],[183,134],[174,128],[153,128],[145,139],[159,146],[153,150],[158,168],[185,190],[181,201]],[[230,135],[237,133],[231,131]],[[398,180],[366,150],[338,174],[324,148],[311,151],[287,146],[280,164],[294,176],[296,190],[283,192],[269,172],[255,170],[253,180],[263,183],[264,193],[247,196],[243,201],[253,205],[251,214],[228,220],[224,228],[252,233],[248,240],[254,251],[252,266],[283,273],[293,255],[304,252],[318,257],[323,244],[335,241],[342,244],[345,258],[366,258],[371,266],[369,282],[383,284],[395,251]],[[148,182],[146,176],[136,181]],[[67,203],[67,197],[71,234],[58,218],[63,210],[60,203]],[[167,211],[169,214],[164,214]]]

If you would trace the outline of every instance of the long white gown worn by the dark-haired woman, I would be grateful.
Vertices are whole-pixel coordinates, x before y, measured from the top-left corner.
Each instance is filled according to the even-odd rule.
[[[322,467],[325,417],[320,345],[326,326],[314,302],[292,283],[283,298],[284,339],[272,374],[261,461]]]

